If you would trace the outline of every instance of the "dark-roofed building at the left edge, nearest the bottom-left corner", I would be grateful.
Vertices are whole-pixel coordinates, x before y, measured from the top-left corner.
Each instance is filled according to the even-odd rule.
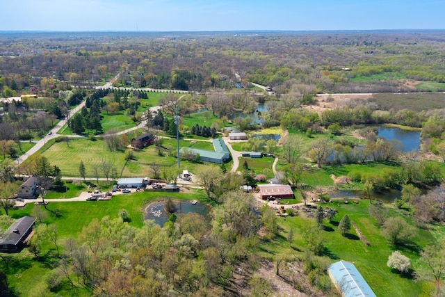
[[[10,225],[0,237],[0,252],[19,252],[33,236],[35,218],[24,216]]]

